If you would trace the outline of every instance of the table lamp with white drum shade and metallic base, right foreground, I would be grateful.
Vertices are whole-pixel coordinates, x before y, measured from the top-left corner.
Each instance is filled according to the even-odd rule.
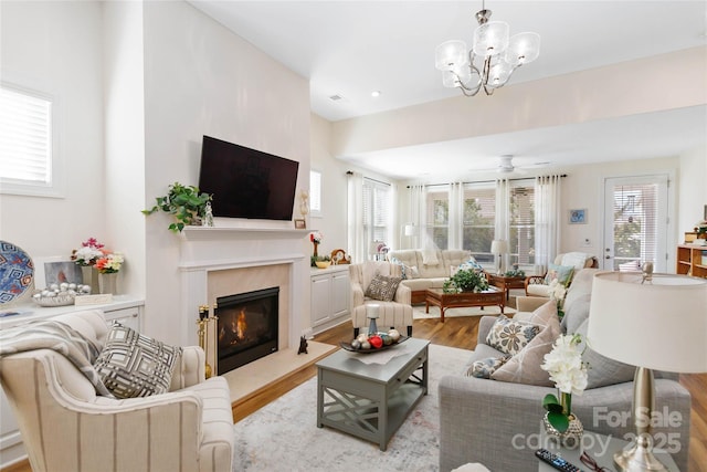
[[[636,366],[632,417],[636,437],[614,454],[619,471],[667,471],[653,455],[653,370],[707,371],[707,279],[637,272],[594,275],[588,344]],[[646,413],[647,412],[647,413]]]

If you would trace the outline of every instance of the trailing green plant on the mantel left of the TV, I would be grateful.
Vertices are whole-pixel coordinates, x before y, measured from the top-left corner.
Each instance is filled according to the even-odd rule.
[[[173,214],[177,221],[169,225],[169,230],[177,233],[186,225],[199,224],[211,199],[212,196],[200,192],[199,187],[175,182],[169,186],[167,195],[157,197],[155,207],[143,210],[143,214],[152,214],[160,210]]]

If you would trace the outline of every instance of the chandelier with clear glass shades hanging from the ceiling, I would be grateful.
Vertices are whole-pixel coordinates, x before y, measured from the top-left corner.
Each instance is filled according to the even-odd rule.
[[[503,21],[488,21],[492,11],[476,13],[478,28],[474,30],[474,45],[466,49],[464,41],[446,41],[435,50],[435,66],[442,71],[445,87],[458,87],[466,96],[474,96],[483,87],[486,95],[500,88],[523,64],[538,59],[540,35],[518,33],[509,38],[510,28]],[[468,52],[467,52],[468,51]],[[476,66],[474,61],[483,59]]]

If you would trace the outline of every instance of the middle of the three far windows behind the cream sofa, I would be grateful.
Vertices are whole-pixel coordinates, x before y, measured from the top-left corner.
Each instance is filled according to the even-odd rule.
[[[478,262],[494,263],[490,242],[496,231],[496,187],[493,182],[464,186],[463,248]]]

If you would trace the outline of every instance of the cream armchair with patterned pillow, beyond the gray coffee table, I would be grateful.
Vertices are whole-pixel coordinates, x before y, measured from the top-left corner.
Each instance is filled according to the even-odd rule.
[[[371,304],[379,306],[378,319],[376,321],[379,328],[394,327],[400,333],[407,333],[408,336],[412,336],[411,290],[400,284],[393,300],[390,302],[369,298],[365,294],[376,274],[401,276],[400,266],[390,262],[368,261],[349,266],[354,337],[358,336],[360,328],[368,326],[366,310],[367,305]]]

